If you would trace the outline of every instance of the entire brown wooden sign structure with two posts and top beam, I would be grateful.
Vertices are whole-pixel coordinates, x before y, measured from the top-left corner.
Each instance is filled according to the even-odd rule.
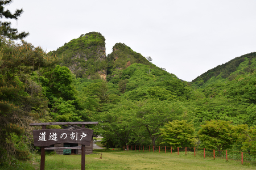
[[[88,145],[90,140],[92,139],[93,130],[92,129],[85,129],[85,125],[97,125],[98,122],[46,122],[46,123],[33,123],[30,126],[42,126],[41,130],[33,130],[34,136],[34,145],[41,147],[41,162],[40,162],[40,170],[44,170],[46,164],[46,151],[45,150],[57,150],[57,149],[70,149],[76,148],[81,149],[81,169],[85,170],[85,145]],[[79,130],[64,130],[64,129],[46,129],[46,125],[82,125],[82,129]],[[46,138],[39,138],[40,133],[55,133],[55,137],[49,137],[49,135],[45,136]],[[61,137],[61,134],[66,134]],[[75,135],[73,135],[74,133]],[[39,135],[38,135],[39,134]],[[59,134],[59,136],[58,136]],[[69,137],[68,138],[68,134]],[[88,135],[88,136],[87,136]],[[84,138],[87,136],[87,138]],[[73,138],[74,137],[74,138]],[[68,143],[80,143],[82,144],[81,147],[47,147],[49,145],[53,145],[55,143],[63,143],[64,138],[68,138],[65,141]],[[85,140],[86,139],[86,140]],[[43,142],[45,141],[45,142]],[[47,142],[46,142],[47,141]]]

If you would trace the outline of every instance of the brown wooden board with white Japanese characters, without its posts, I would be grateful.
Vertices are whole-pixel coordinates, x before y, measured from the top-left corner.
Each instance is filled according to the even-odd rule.
[[[33,130],[35,146],[50,146],[57,143],[78,143],[81,145],[90,145],[92,140],[92,129],[42,129]]]

